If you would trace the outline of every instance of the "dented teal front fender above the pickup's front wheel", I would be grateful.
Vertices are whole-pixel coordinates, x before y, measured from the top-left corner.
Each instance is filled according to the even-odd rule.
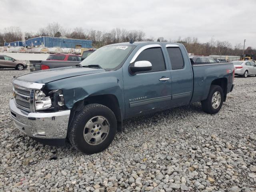
[[[103,94],[115,95],[121,108],[124,104],[121,69],[56,80],[48,83],[46,89],[62,89],[65,106],[68,109],[89,96]]]

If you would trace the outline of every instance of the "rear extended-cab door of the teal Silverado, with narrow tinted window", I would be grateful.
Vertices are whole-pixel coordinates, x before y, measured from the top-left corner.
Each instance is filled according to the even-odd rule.
[[[172,107],[190,103],[193,92],[192,66],[183,46],[166,44],[172,77]]]

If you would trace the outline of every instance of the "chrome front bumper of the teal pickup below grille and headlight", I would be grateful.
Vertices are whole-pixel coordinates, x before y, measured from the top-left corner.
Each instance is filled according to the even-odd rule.
[[[59,112],[27,112],[10,99],[10,116],[15,126],[24,134],[35,138],[66,138],[70,110]]]

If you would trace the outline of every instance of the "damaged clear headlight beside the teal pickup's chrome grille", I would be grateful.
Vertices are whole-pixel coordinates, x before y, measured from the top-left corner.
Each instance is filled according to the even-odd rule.
[[[52,106],[52,100],[50,97],[46,97],[46,94],[37,90],[35,92],[35,110],[44,110]]]

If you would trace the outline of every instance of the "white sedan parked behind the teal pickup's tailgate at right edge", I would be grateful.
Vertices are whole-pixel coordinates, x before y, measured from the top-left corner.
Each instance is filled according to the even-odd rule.
[[[235,75],[246,78],[248,75],[256,75],[256,64],[252,61],[233,61]]]

